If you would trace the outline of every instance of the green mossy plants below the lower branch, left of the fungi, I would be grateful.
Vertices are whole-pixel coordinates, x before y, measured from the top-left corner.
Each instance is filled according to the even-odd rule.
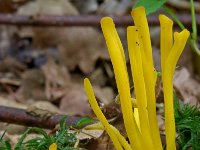
[[[38,133],[37,136],[30,140],[25,140],[30,132]],[[48,150],[50,145],[56,144],[57,149],[53,150],[78,150],[75,148],[75,143],[77,132],[70,132],[69,127],[65,123],[65,118],[60,121],[60,126],[58,131],[53,135],[48,135],[44,130],[36,127],[28,128],[18,143],[16,144],[14,150]],[[0,138],[0,150],[12,150],[11,144],[3,139],[4,134]]]

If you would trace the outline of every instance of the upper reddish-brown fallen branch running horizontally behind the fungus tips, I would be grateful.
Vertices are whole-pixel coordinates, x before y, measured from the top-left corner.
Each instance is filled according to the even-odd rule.
[[[191,25],[190,14],[177,15],[185,25]],[[23,26],[99,26],[102,16],[18,16],[13,14],[0,14],[0,24]],[[130,16],[112,16],[116,26],[133,24]],[[197,25],[200,25],[200,15],[196,15]],[[149,25],[159,25],[156,15],[148,16]]]

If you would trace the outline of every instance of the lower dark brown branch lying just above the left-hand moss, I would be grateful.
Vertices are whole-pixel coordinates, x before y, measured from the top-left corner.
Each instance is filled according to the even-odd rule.
[[[32,116],[23,109],[0,106],[0,122],[53,129],[63,117],[64,115],[52,115],[45,119]],[[81,119],[81,117],[76,116],[65,117],[67,117],[66,124],[68,126],[75,126],[77,121]]]

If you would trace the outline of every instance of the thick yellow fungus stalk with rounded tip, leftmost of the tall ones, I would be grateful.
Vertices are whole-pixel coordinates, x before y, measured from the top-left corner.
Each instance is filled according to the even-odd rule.
[[[127,68],[124,63],[124,52],[122,54],[122,51],[117,44],[118,41],[115,40],[116,38],[113,38],[113,36],[116,36],[116,34],[112,32],[116,30],[113,20],[109,17],[103,18],[101,20],[101,28],[114,69],[126,132],[129,137],[131,147],[139,149],[142,148],[142,139],[133,116],[131,95],[130,92],[127,92],[130,91],[130,85]]]

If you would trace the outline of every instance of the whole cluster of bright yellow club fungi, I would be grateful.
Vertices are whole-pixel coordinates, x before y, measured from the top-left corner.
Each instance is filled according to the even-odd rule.
[[[127,28],[129,59],[136,95],[136,107],[132,105],[129,77],[121,41],[110,17],[101,19],[101,28],[106,40],[120,96],[123,120],[129,142],[109,122],[96,101],[90,81],[84,80],[89,103],[99,119],[96,128],[104,129],[117,150],[162,150],[156,118],[155,84],[156,71],[153,65],[152,46],[148,22],[143,7],[131,12],[135,26]],[[184,29],[172,35],[173,22],[165,15],[159,16],[161,25],[161,69],[165,103],[165,133],[167,150],[175,150],[175,121],[173,107],[173,74],[189,31]]]

